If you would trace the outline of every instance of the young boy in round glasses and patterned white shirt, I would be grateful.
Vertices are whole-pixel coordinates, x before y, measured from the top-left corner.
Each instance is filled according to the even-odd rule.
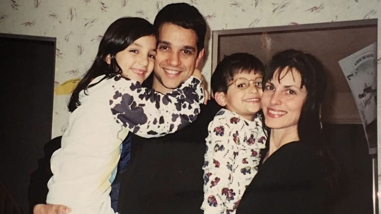
[[[204,155],[204,214],[234,214],[253,180],[265,148],[262,128],[260,60],[248,53],[225,57],[211,81],[216,102],[224,107],[209,124]]]

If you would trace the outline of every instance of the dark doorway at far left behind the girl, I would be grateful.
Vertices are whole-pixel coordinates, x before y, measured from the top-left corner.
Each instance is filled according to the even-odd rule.
[[[51,139],[56,38],[0,34],[0,180],[28,213],[29,175]]]

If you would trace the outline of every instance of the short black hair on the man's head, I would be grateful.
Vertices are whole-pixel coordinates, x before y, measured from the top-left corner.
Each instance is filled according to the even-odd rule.
[[[168,4],[158,12],[153,22],[157,36],[159,35],[160,27],[165,23],[193,30],[197,36],[197,53],[204,48],[207,29],[206,21],[197,8],[187,3]]]

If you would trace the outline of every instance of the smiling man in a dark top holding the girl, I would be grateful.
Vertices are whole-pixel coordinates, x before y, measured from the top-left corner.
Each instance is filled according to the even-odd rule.
[[[145,82],[167,93],[191,76],[204,55],[206,22],[186,3],[157,14],[158,47],[154,75]],[[131,162],[122,174],[117,211],[122,214],[201,213],[202,165],[209,122],[220,107],[214,100],[188,127],[160,138],[132,135]],[[38,205],[35,214],[66,213],[64,206]]]

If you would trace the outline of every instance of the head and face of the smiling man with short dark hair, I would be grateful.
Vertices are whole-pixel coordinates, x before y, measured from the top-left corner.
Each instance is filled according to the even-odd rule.
[[[181,16],[185,20],[176,17],[179,11],[185,13]],[[167,5],[156,16],[154,26],[159,40],[152,84],[155,90],[169,92],[179,86],[204,56],[206,22],[200,13],[195,13],[196,8],[183,3]]]

